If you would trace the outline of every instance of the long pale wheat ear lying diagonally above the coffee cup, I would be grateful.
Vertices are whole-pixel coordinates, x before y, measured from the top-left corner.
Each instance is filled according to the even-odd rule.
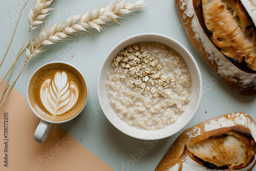
[[[84,15],[73,15],[59,24],[45,28],[30,42],[29,48],[26,49],[25,62],[44,51],[42,49],[45,46],[67,40],[69,34],[87,31],[87,29],[103,30],[102,24],[110,21],[119,23],[118,18],[122,15],[131,13],[131,10],[140,10],[145,6],[144,0],[128,4],[124,4],[124,2],[124,0],[120,0]]]

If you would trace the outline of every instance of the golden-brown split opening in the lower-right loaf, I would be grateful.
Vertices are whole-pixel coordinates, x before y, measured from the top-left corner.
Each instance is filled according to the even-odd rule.
[[[256,143],[243,130],[234,130],[240,130],[240,127],[215,130],[211,133],[214,136],[187,144],[185,151],[191,159],[210,169],[244,168],[256,153]]]

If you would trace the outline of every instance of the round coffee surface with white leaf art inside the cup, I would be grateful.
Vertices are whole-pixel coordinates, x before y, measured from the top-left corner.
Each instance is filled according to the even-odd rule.
[[[34,111],[50,121],[76,116],[87,100],[83,76],[66,63],[49,63],[30,79],[28,98]]]

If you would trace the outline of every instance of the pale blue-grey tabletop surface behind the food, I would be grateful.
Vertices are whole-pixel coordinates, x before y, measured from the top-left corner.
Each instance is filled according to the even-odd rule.
[[[126,1],[126,3],[129,2],[135,1]],[[9,44],[16,24],[17,13],[24,3],[25,0],[1,1],[0,56],[4,56],[6,46]],[[131,17],[130,19],[122,18],[121,25],[109,23],[110,25],[104,25],[107,29],[104,32],[99,33],[97,30],[91,29],[89,31],[93,36],[78,34],[79,38],[70,41],[68,44],[59,42],[56,45],[48,46],[46,52],[41,53],[30,61],[15,86],[15,89],[25,96],[29,77],[39,66],[53,60],[63,60],[75,65],[83,73],[88,83],[88,105],[77,118],[68,123],[59,124],[59,126],[114,170],[155,170],[158,162],[178,135],[188,127],[204,120],[232,112],[244,112],[256,119],[254,112],[256,106],[255,97],[244,97],[233,92],[208,67],[190,44],[175,2],[173,0],[162,2],[146,0],[145,3],[155,4],[147,5],[145,6],[147,8],[139,11],[133,11],[138,15],[128,15]],[[34,5],[33,0],[29,1],[20,18],[13,44],[4,66],[0,70],[0,77],[3,77],[5,71],[9,69],[22,45],[23,38],[28,30],[27,16],[31,4]],[[71,13],[78,14],[82,8],[83,13],[85,13],[90,9],[99,8],[101,5],[102,0],[59,0],[53,2],[51,7],[55,8],[55,10],[50,11],[50,23],[59,22]],[[195,57],[203,80],[202,100],[195,117],[176,135],[158,141],[135,139],[115,129],[102,113],[97,98],[97,76],[105,55],[122,39],[145,32],[164,34],[181,42]],[[33,35],[34,31],[29,34],[27,40]],[[24,66],[24,55],[18,60],[14,72],[15,76]],[[74,57],[72,58],[73,55]],[[139,156],[139,152],[142,151],[143,153]],[[135,156],[137,156],[136,159],[134,158]],[[256,168],[253,170],[255,171]]]

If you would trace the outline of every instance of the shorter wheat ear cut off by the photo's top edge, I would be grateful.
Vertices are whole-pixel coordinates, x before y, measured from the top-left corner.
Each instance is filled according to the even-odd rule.
[[[28,15],[28,22],[30,24],[30,30],[34,26],[39,26],[48,14],[47,12],[53,10],[53,8],[47,8],[54,0],[36,0],[35,6],[30,10]]]

